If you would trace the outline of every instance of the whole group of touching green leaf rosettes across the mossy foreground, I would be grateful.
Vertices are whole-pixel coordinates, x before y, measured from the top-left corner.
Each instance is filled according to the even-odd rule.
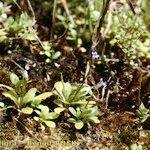
[[[99,123],[97,115],[98,108],[94,106],[95,101],[88,100],[92,93],[90,86],[86,84],[73,84],[69,82],[59,81],[54,85],[52,92],[44,92],[37,95],[36,88],[27,89],[29,78],[27,72],[20,79],[16,74],[10,73],[10,81],[12,87],[0,84],[2,95],[13,101],[14,105],[5,107],[4,102],[0,103],[2,109],[14,107],[21,114],[30,115],[35,112],[38,116],[34,116],[34,120],[44,123],[48,127],[56,127],[53,121],[57,119],[64,111],[68,113],[70,118],[68,122],[74,123],[76,129],[81,129],[85,124]],[[42,101],[55,95],[53,101],[58,107],[54,111],[50,111],[50,106],[42,105]]]

